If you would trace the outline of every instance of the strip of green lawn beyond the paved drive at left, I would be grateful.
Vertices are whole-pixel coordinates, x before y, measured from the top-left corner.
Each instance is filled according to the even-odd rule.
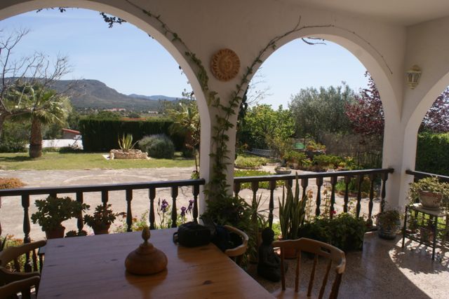
[[[31,159],[28,153],[0,153],[0,169],[91,169],[91,168],[156,168],[192,167],[193,159],[184,159],[180,154],[173,160],[106,160],[102,153],[43,153],[41,158]]]

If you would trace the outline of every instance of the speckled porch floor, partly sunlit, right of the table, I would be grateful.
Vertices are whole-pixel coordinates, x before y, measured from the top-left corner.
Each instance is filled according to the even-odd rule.
[[[406,248],[401,245],[399,236],[388,241],[376,232],[367,233],[363,251],[347,254],[339,298],[449,298],[449,253],[432,261],[430,248],[407,239]],[[293,286],[295,261],[288,263],[287,285]],[[304,263],[311,265],[312,260]],[[302,269],[307,272],[307,265]],[[280,287],[258,278],[255,266],[248,272],[269,291]]]

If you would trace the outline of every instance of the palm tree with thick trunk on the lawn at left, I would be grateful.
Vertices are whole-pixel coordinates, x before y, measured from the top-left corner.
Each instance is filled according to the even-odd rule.
[[[39,158],[42,155],[42,125],[63,123],[71,109],[69,98],[39,84],[22,85],[16,92],[20,92],[28,108],[14,119],[31,120],[29,157]]]

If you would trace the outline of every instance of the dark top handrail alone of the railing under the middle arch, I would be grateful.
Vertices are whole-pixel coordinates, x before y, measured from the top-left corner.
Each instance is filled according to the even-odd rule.
[[[298,174],[298,179],[315,179],[327,178],[336,176],[357,176],[366,174],[387,174],[393,173],[393,168],[379,168],[379,169],[363,169],[363,170],[347,170],[343,172],[316,172],[313,174]],[[270,176],[240,176],[234,178],[234,183],[248,183],[253,181],[281,181],[295,179],[295,174],[274,174]]]

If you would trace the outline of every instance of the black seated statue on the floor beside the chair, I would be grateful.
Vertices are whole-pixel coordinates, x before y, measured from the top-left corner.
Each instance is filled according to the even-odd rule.
[[[281,280],[281,258],[274,253],[272,242],[274,231],[271,228],[262,230],[262,244],[259,247],[259,263],[257,274],[269,281]]]

